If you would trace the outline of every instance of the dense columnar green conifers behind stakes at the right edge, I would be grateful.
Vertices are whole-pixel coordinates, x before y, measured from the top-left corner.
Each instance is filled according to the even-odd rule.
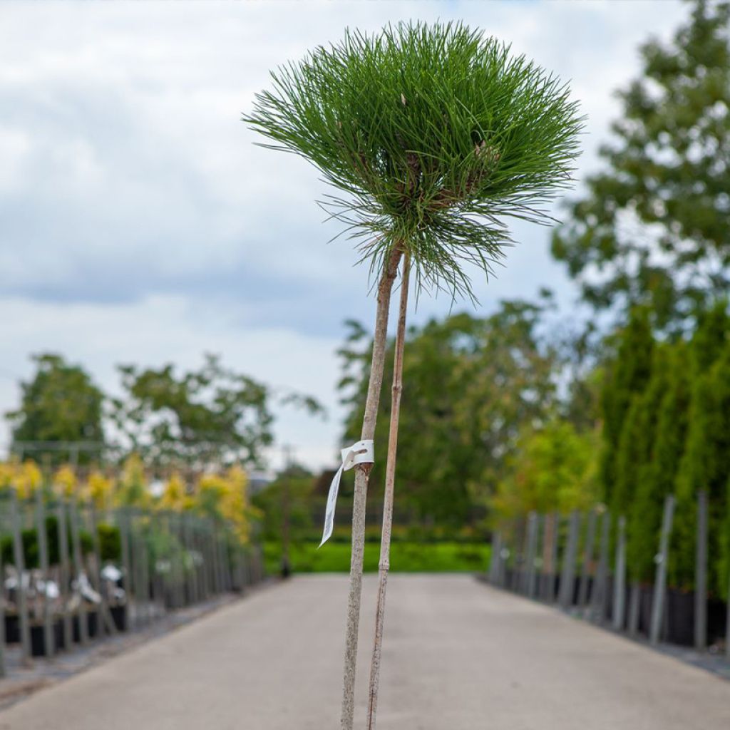
[[[677,499],[669,561],[672,585],[694,584],[696,504],[710,508],[709,588],[726,585],[730,544],[730,315],[718,301],[691,337],[657,339],[645,310],[613,338],[604,365],[602,485],[614,515],[625,515],[634,580],[651,580],[664,499]]]

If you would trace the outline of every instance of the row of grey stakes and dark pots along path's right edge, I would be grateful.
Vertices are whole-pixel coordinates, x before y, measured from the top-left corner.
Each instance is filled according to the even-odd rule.
[[[705,650],[724,642],[730,658],[730,596],[707,591],[708,571],[721,558],[707,549],[706,493],[697,499],[691,544],[672,541],[674,523],[675,497],[670,495],[650,558],[653,582],[645,582],[637,580],[630,564],[623,516],[614,518],[604,508],[570,515],[530,512],[493,533],[488,580],[631,637],[647,637],[652,644]],[[688,554],[694,556],[693,591],[667,583],[669,566]]]

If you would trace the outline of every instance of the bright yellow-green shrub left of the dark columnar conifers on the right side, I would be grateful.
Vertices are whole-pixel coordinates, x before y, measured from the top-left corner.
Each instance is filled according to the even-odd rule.
[[[598,502],[596,442],[597,434],[558,418],[526,429],[492,500],[495,518],[591,509]]]

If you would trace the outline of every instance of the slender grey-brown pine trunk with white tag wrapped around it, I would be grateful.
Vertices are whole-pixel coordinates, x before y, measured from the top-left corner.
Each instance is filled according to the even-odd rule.
[[[388,340],[388,310],[391,306],[391,291],[398,273],[401,249],[396,247],[385,263],[377,288],[377,311],[372,343],[372,366],[365,401],[365,415],[361,439],[372,439],[375,435],[375,420],[383,386],[383,365],[385,345]],[[350,556],[350,595],[347,599],[347,632],[345,634],[345,671],[342,688],[342,730],[353,730],[355,711],[355,669],[358,657],[358,627],[360,625],[360,597],[363,579],[363,555],[365,550],[365,505],[367,484],[372,464],[358,464],[355,467],[355,494],[353,496],[353,548]]]

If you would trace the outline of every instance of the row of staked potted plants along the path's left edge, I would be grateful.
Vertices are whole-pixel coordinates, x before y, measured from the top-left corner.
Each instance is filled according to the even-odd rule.
[[[37,490],[0,496],[0,672],[4,648],[32,656],[140,628],[169,610],[261,580],[258,547],[195,512],[97,509]]]

